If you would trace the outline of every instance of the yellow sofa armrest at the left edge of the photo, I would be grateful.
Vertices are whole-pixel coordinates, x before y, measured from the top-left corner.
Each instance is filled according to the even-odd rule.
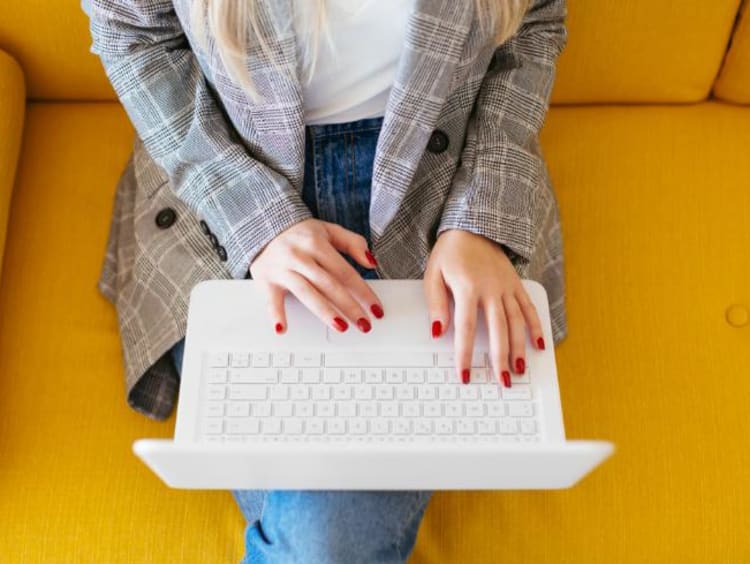
[[[10,55],[0,50],[0,280],[10,200],[21,150],[26,88],[23,72]]]

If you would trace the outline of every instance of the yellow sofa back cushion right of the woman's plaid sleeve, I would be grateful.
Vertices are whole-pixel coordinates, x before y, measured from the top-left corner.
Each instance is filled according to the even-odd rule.
[[[711,92],[739,0],[568,0],[554,103],[695,102]]]

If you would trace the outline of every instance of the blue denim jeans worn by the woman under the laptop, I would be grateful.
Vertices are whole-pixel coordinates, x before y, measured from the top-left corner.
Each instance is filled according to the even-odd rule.
[[[306,128],[302,197],[319,219],[370,242],[370,184],[382,118]],[[366,279],[374,270],[346,260]],[[387,314],[386,314],[387,315]],[[184,340],[172,348],[182,367]],[[404,562],[430,491],[232,492],[247,519],[243,563]]]

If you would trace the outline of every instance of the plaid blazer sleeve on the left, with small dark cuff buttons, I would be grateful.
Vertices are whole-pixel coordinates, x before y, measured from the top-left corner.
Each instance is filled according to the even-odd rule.
[[[244,278],[276,235],[312,217],[285,176],[249,154],[214,99],[172,0],[83,0],[104,66],[146,150]],[[269,213],[273,210],[274,213]]]

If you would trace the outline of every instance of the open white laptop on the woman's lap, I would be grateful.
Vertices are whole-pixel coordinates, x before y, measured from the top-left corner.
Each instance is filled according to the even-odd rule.
[[[549,345],[527,335],[526,372],[506,388],[482,315],[463,384],[452,327],[430,336],[422,280],[366,282],[385,310],[366,334],[326,327],[288,294],[277,335],[255,281],[196,285],[174,439],[135,453],[175,488],[334,490],[567,488],[612,453],[565,438],[541,284],[523,281]]]

